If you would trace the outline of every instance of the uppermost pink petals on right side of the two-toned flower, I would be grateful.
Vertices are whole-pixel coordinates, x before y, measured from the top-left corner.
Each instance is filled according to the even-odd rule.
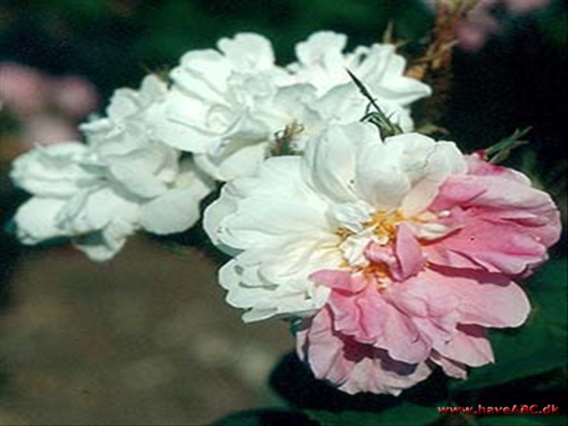
[[[545,260],[547,247],[559,238],[558,209],[524,175],[475,161],[479,174],[450,176],[430,207],[435,212],[459,207],[464,214],[460,229],[425,246],[428,261],[523,273]]]

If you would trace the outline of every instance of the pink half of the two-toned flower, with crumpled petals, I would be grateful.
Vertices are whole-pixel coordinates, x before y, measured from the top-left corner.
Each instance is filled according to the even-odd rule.
[[[437,219],[385,217],[378,229],[393,237],[366,244],[366,266],[312,273],[331,293],[300,327],[297,351],[317,378],[393,395],[436,365],[466,378],[467,366],[494,361],[485,327],[525,322],[530,304],[512,279],[545,261],[558,210],[521,173],[473,155],[467,165],[439,187],[426,214]]]

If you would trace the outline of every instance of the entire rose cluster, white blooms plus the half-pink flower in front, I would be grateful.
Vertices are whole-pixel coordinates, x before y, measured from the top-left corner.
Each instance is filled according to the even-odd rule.
[[[189,228],[226,182],[203,225],[246,322],[290,320],[300,359],[348,393],[398,395],[437,367],[466,378],[494,361],[487,327],[525,322],[514,280],[559,238],[557,208],[525,175],[414,133],[410,105],[431,90],[393,45],[345,48],[315,33],[279,66],[241,33],[183,55],[168,82],[119,89],[81,126],[87,143],[16,160],[33,194],[18,235],[104,260],[137,229]],[[361,122],[368,99],[346,70],[398,134]]]

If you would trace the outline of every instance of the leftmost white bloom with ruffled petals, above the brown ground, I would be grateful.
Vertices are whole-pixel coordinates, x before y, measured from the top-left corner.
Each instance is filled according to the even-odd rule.
[[[81,126],[87,143],[39,146],[14,161],[11,178],[33,195],[14,218],[23,243],[72,237],[105,261],[136,229],[168,234],[199,219],[214,182],[155,136],[166,93],[150,75],[138,92],[117,90],[106,118]]]

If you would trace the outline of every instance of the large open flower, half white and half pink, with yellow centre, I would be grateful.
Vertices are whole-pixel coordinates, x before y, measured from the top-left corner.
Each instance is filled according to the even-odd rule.
[[[234,256],[219,280],[244,320],[302,317],[317,378],[398,395],[437,365],[465,378],[493,362],[484,328],[525,321],[513,278],[545,260],[559,215],[524,175],[452,142],[356,123],[226,185],[204,226]]]

